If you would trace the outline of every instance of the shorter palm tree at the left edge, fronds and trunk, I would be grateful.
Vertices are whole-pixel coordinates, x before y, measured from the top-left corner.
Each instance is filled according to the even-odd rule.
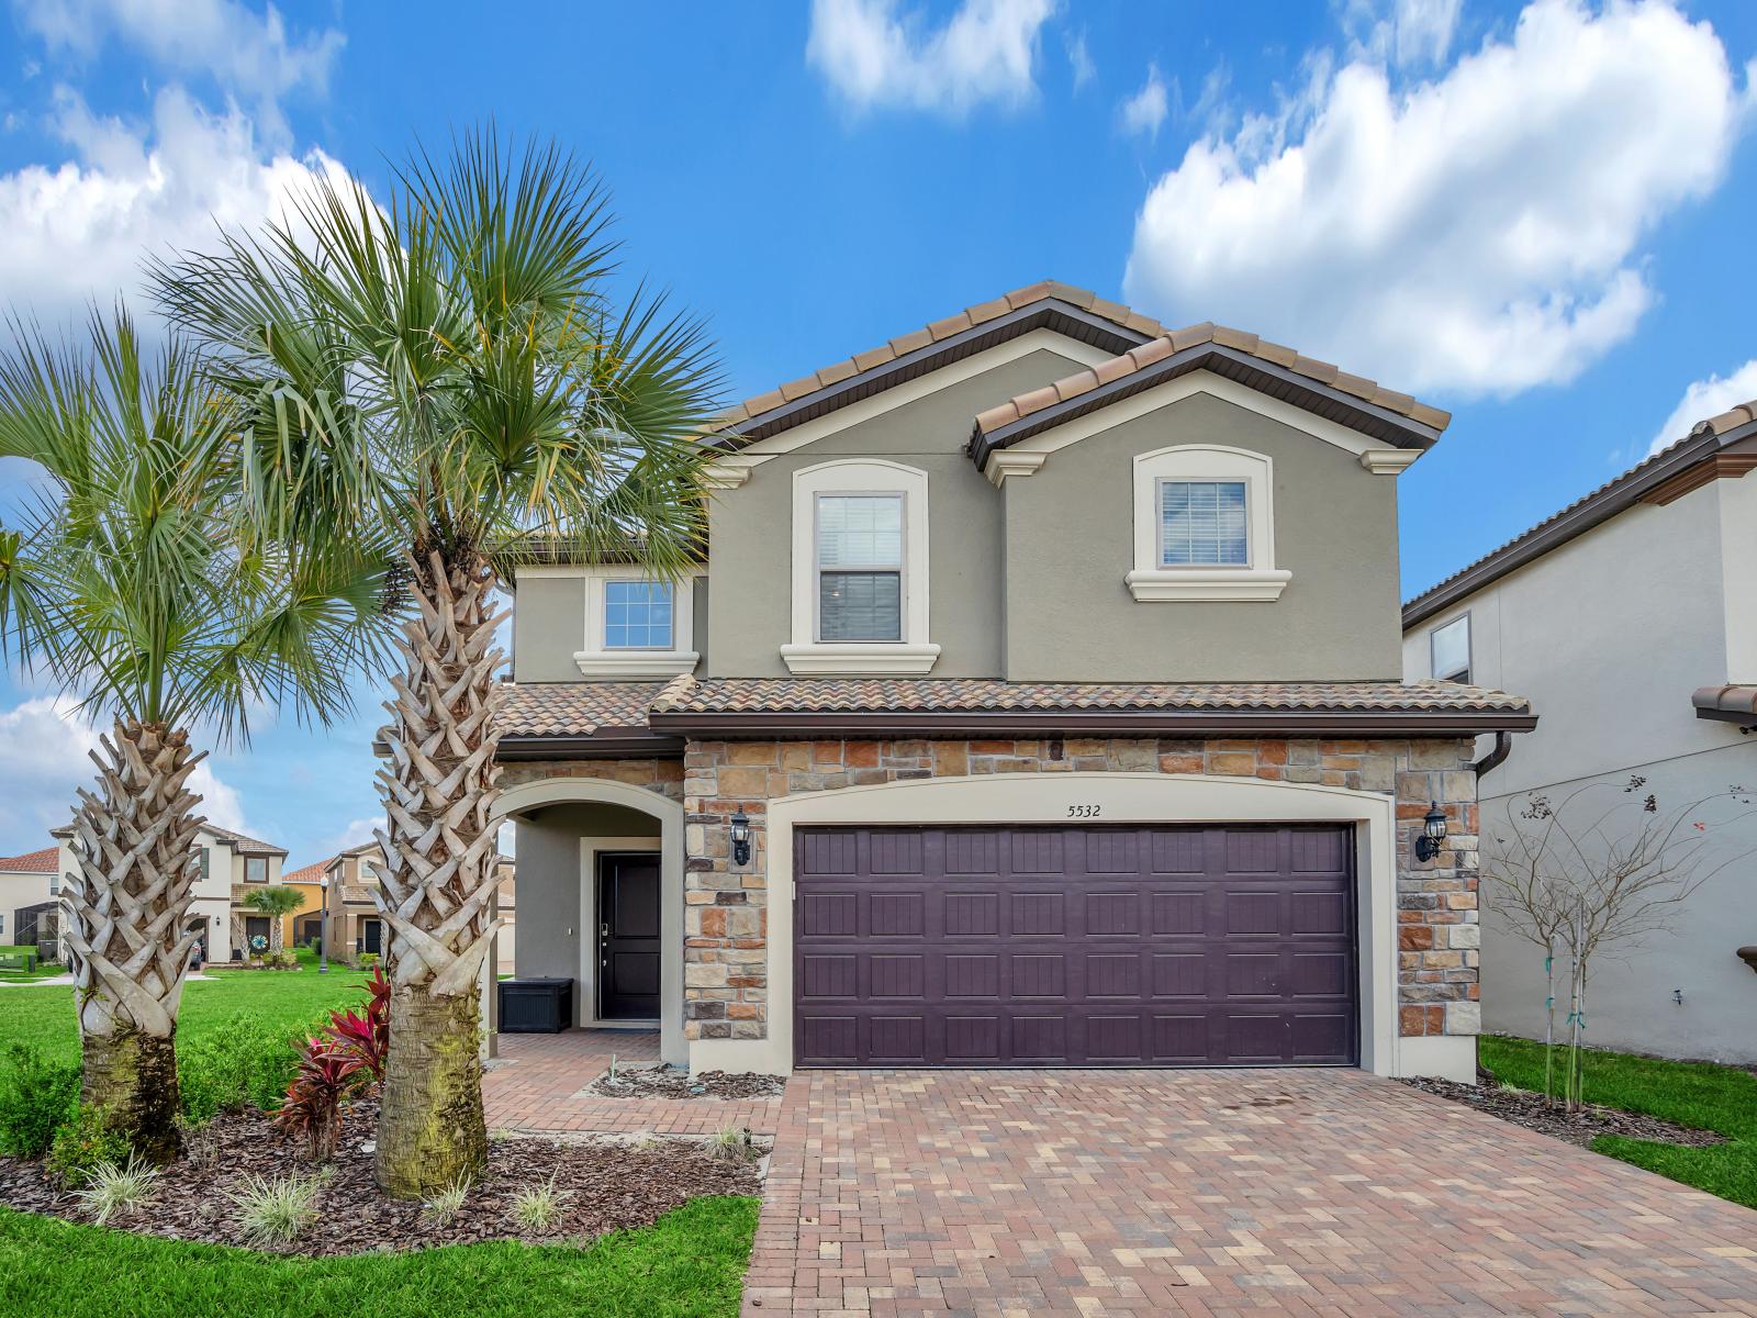
[[[61,889],[77,984],[81,1102],[148,1158],[177,1151],[176,1028],[200,861],[206,752],[244,743],[260,705],[329,721],[374,636],[383,590],[346,554],[251,543],[237,520],[239,418],[172,341],[153,357],[125,311],[90,348],[14,325],[0,360],[0,457],[37,464],[0,529],[0,634],[21,668],[111,728],[91,754]]]

